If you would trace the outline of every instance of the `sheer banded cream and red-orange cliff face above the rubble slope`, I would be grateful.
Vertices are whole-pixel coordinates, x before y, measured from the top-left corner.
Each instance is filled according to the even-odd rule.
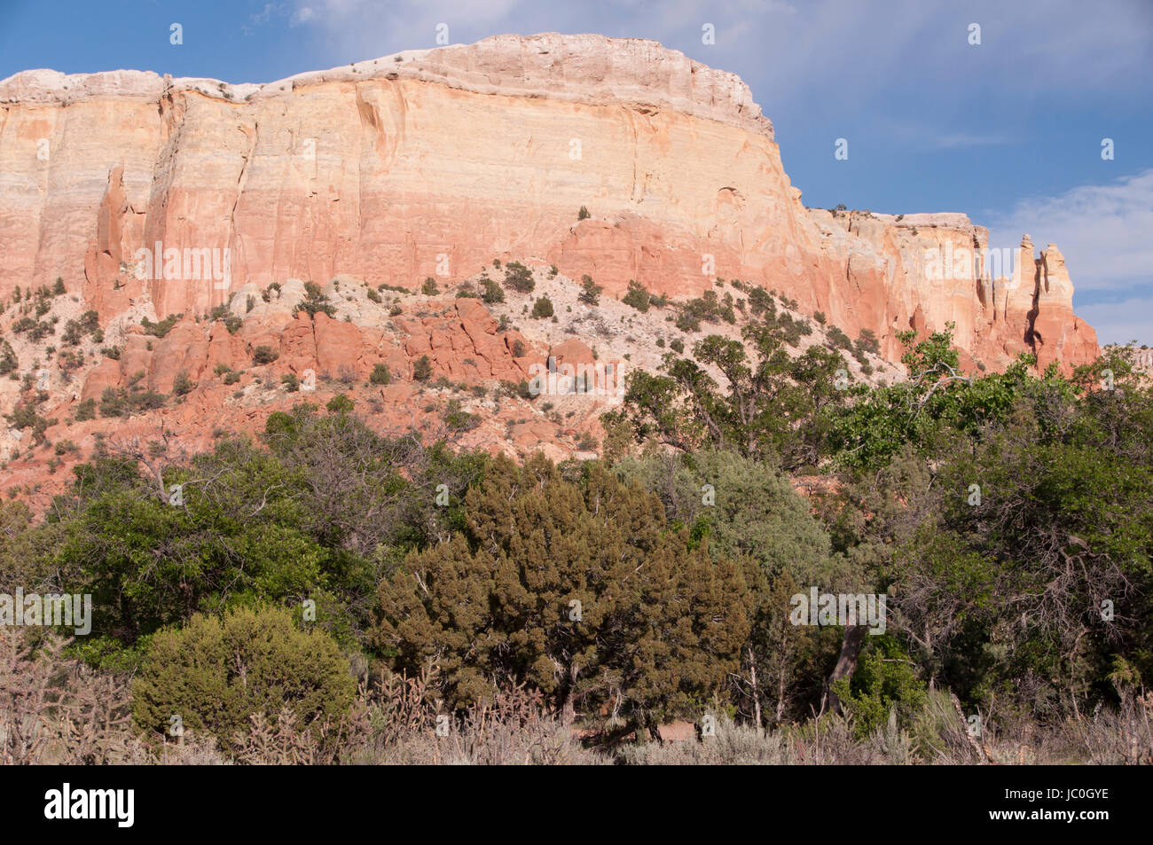
[[[610,294],[753,281],[872,330],[890,359],[896,332],[950,320],[990,368],[1095,356],[1053,244],[1023,244],[1018,284],[929,266],[987,239],[960,214],[807,210],[748,88],[653,42],[502,36],[267,85],[0,83],[0,296],[59,276],[101,319],[202,314],[249,282],[410,288],[540,258]]]

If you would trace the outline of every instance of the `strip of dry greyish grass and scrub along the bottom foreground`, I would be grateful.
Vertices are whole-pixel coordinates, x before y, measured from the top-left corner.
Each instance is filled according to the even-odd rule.
[[[911,725],[890,715],[858,738],[851,719],[819,720],[758,731],[729,718],[715,735],[683,742],[623,744],[593,749],[562,724],[538,693],[495,691],[492,701],[440,722],[436,672],[363,681],[348,716],[321,731],[300,730],[292,714],[257,714],[234,756],[211,738],[186,732],[153,741],[133,727],[127,679],[68,659],[67,641],[38,648],[0,628],[0,763],[80,764],[612,764],[633,765],[1001,765],[1153,763],[1153,693],[1128,695],[1117,708],[1040,727],[1001,726],[971,737],[950,695],[930,693]],[[442,731],[443,732],[443,731]]]

